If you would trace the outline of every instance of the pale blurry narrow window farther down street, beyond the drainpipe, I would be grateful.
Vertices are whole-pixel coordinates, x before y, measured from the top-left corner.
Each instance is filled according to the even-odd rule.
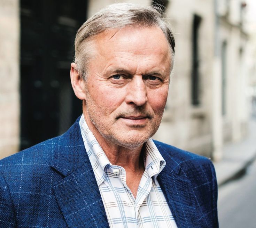
[[[227,42],[222,43],[221,71],[222,71],[222,115],[226,114],[226,83],[227,83]]]

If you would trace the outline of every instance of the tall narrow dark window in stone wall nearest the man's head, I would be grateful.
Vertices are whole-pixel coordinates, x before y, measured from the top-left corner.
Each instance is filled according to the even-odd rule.
[[[201,17],[194,15],[192,28],[192,104],[199,105],[199,28]]]

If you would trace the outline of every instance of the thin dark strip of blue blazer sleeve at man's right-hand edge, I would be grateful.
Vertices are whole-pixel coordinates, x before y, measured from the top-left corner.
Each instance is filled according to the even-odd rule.
[[[212,173],[212,219],[214,228],[219,227],[218,222],[218,210],[217,210],[217,200],[218,200],[218,184],[217,184],[217,178],[215,173],[215,168],[212,162],[210,162],[211,166],[211,173]]]

